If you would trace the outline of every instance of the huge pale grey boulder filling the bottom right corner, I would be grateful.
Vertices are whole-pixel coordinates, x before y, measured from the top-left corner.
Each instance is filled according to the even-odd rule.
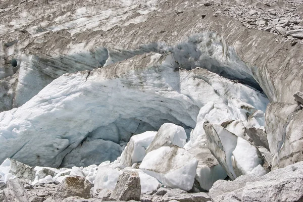
[[[264,176],[240,176],[234,181],[218,180],[210,189],[213,201],[300,201],[303,163],[299,162]]]

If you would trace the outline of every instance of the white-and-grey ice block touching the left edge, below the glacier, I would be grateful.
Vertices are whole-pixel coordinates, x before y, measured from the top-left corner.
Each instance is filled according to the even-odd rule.
[[[8,179],[9,175],[26,181],[34,181],[36,171],[30,166],[8,158],[0,165],[0,175],[0,179],[4,181]]]

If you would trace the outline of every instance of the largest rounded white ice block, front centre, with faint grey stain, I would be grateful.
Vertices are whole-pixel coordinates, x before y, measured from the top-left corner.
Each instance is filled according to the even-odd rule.
[[[170,188],[190,190],[198,161],[183,148],[162,146],[150,151],[139,168]]]

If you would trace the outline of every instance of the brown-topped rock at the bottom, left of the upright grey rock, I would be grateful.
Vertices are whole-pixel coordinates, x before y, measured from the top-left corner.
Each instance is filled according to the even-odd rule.
[[[65,178],[55,192],[55,199],[64,199],[69,196],[90,198],[91,184],[84,177],[70,176]]]

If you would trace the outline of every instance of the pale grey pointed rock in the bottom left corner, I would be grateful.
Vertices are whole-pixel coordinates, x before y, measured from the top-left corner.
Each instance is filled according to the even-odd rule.
[[[12,201],[12,202],[28,201],[28,193],[24,189],[23,184],[18,178],[9,179],[7,181],[7,188],[5,188],[3,191],[8,201]]]

